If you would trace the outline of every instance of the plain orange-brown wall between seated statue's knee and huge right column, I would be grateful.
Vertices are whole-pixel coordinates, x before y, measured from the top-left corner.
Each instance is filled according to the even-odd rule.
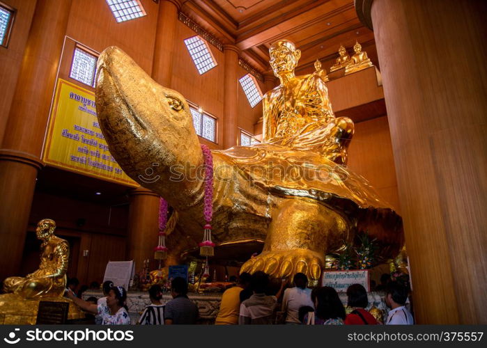
[[[401,212],[387,116],[355,123],[348,168],[369,180],[380,196]]]

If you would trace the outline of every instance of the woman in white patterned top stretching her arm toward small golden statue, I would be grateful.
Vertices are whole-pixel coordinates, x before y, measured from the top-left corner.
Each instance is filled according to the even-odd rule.
[[[130,324],[127,306],[125,306],[127,291],[122,286],[111,287],[107,296],[107,306],[95,305],[79,299],[71,290],[68,290],[68,297],[82,310],[100,315],[102,317],[102,325]]]

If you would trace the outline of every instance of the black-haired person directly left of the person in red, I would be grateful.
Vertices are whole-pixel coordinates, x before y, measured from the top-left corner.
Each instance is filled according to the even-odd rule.
[[[314,324],[343,325],[345,308],[333,287],[324,286],[313,290],[311,299],[316,308],[317,318]]]

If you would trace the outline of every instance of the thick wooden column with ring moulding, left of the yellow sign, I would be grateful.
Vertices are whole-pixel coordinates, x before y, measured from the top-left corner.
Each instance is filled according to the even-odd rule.
[[[22,262],[70,7],[71,0],[36,3],[0,149],[0,279],[17,275]]]

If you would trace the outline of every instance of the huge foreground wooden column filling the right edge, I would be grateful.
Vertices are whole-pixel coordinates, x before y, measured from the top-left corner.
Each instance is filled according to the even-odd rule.
[[[356,1],[373,24],[418,324],[487,324],[485,1]]]

